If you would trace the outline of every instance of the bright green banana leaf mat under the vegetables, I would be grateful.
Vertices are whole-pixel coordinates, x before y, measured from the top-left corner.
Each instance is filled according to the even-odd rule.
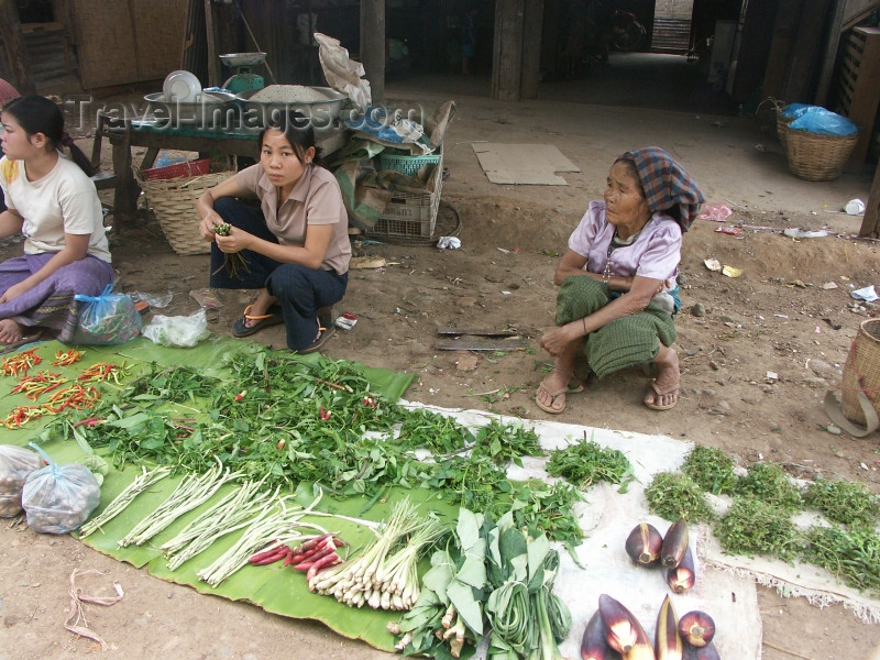
[[[129,375],[119,385],[113,383],[105,383],[102,385],[102,398],[108,398],[119,395],[127,382],[147,373],[153,363],[165,366],[193,366],[206,374],[223,377],[222,364],[226,356],[239,351],[256,352],[262,350],[263,346],[255,342],[216,337],[191,349],[172,349],[156,345],[141,338],[114,346],[80,346],[78,348],[82,353],[80,362],[70,366],[48,366],[57,351],[68,351],[69,349],[70,346],[54,341],[38,344],[35,352],[43,362],[32,367],[30,373],[47,369],[68,376],[70,381],[75,381],[79,373],[94,364],[105,362],[124,363]],[[314,362],[322,359],[317,354],[311,354],[304,355],[302,360]],[[371,382],[372,389],[383,394],[392,402],[397,400],[406,392],[414,377],[413,375],[399,374],[388,370],[363,369],[364,375]],[[0,375],[0,416],[2,416],[2,419],[6,419],[7,415],[15,407],[33,403],[25,398],[23,394],[10,393],[14,384],[14,376]],[[189,414],[191,415],[191,411]],[[2,433],[0,442],[26,446],[29,441],[38,435],[50,417],[46,415],[38,419],[32,419],[21,428],[9,429],[0,427],[0,433]],[[73,441],[51,440],[41,443],[41,447],[59,464],[81,462],[85,459],[82,450]],[[128,465],[122,471],[111,468],[101,486],[101,503],[92,516],[99,514],[141,472],[140,465]],[[167,562],[158,549],[162,543],[173,538],[188,521],[220,502],[233,488],[232,485],[222,486],[209,501],[182,516],[163,532],[154,537],[148,544],[120,547],[118,541],[138,521],[155,510],[182,479],[180,476],[169,476],[154,484],[148,491],[139,495],[132,504],[103,526],[102,529],[81,539],[82,542],[120,561],[131,563],[138,568],[145,566],[151,574],[162,580],[186,584],[201,593],[213,594],[232,601],[251,602],[267,612],[283,616],[317,619],[345,637],[360,638],[382,650],[393,650],[394,638],[386,631],[385,626],[388,620],[399,618],[399,613],[376,612],[370,608],[354,609],[338,603],[332,597],[312,594],[307,588],[305,574],[292,571],[289,568],[282,569],[278,564],[273,566],[244,566],[217,587],[211,587],[201,581],[196,574],[197,571],[209,565],[226,552],[238,539],[239,534],[237,532],[221,538],[207,550],[180,565],[176,571],[168,570]],[[427,491],[406,491],[405,494],[414,504],[426,508],[426,503],[431,497],[431,493]],[[324,496],[316,508],[327,513],[382,520],[387,518],[392,504],[399,499],[398,495],[403,495],[403,492],[398,494],[392,491],[384,502],[377,503],[370,509],[369,515],[362,513],[365,502],[363,497],[331,499],[329,496]],[[302,488],[301,493],[297,493],[297,502],[302,506],[308,506],[314,499],[310,488]],[[438,504],[433,502],[431,508],[437,509]],[[338,531],[340,538],[344,539],[355,550],[359,547],[363,547],[372,536],[367,528],[356,522],[339,520],[338,518],[307,517],[304,520],[323,526],[328,530]]]

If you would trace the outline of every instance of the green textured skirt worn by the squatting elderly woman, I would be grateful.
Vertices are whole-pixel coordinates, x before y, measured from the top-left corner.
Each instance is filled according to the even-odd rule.
[[[590,316],[610,298],[608,285],[592,277],[571,275],[562,282],[557,296],[557,326]],[[590,369],[600,377],[634,364],[653,361],[660,344],[675,341],[672,316],[656,302],[642,311],[616,319],[586,336],[584,355]]]

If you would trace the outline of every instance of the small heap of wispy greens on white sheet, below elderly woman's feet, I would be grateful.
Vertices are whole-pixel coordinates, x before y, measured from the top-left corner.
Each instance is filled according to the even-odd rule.
[[[602,447],[598,442],[583,438],[574,444],[550,452],[547,472],[562,476],[579,488],[587,488],[605,481],[619,484],[619,493],[626,493],[634,479],[632,465],[622,451]]]

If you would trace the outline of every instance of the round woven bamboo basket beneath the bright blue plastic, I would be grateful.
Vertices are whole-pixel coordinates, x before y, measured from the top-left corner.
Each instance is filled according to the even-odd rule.
[[[809,182],[831,182],[840,176],[859,134],[820,135],[787,125],[785,153],[789,170]]]

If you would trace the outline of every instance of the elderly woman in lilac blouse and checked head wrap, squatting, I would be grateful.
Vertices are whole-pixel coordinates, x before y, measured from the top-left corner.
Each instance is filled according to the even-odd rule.
[[[560,287],[557,327],[541,337],[553,369],[536,394],[539,408],[565,409],[581,352],[600,378],[652,362],[656,377],[645,405],[675,406],[681,377],[672,348],[672,316],[680,307],[675,276],[682,233],[703,200],[696,182],[662,148],[627,152],[614,162],[604,200],[590,204],[553,276]]]

